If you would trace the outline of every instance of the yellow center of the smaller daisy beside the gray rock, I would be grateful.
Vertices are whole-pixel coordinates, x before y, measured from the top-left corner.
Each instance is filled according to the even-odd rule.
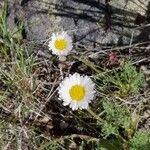
[[[55,41],[55,47],[59,51],[63,51],[65,48],[67,48],[67,41],[65,39],[58,39]]]

